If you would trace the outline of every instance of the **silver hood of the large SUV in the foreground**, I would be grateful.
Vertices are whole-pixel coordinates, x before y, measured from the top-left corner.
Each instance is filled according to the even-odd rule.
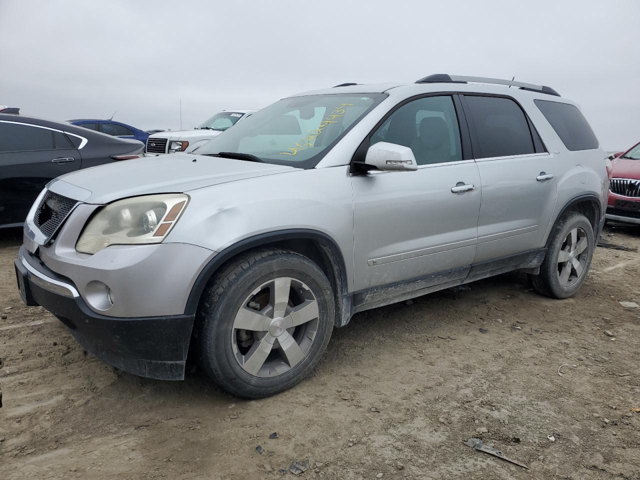
[[[60,195],[88,204],[106,204],[128,196],[182,193],[236,180],[298,170],[194,154],[143,157],[67,173],[47,186]]]

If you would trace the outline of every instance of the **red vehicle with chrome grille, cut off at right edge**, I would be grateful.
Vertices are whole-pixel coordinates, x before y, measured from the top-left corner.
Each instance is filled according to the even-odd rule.
[[[640,143],[611,157],[607,220],[640,224]]]

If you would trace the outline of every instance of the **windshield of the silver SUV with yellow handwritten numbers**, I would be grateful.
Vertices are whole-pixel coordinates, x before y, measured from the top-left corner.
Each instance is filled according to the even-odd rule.
[[[313,168],[385,96],[334,93],[283,99],[209,141],[198,154],[237,152],[266,163]]]

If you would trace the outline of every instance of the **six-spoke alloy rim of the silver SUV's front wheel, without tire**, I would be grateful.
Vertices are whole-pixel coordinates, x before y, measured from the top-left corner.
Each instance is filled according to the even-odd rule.
[[[305,358],[318,330],[318,302],[300,280],[264,282],[239,308],[231,334],[238,364],[253,376],[271,378]]]

